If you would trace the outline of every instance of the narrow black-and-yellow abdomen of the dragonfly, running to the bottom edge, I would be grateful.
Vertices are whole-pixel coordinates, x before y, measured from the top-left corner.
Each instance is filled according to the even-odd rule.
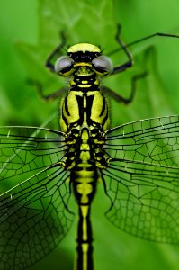
[[[96,191],[98,175],[94,163],[93,147],[89,141],[89,130],[82,130],[81,139],[76,165],[71,171],[71,183],[79,212],[75,269],[92,270],[93,237],[90,207]]]

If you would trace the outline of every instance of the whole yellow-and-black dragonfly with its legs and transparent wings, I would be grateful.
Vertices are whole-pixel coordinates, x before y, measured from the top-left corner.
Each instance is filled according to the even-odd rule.
[[[132,67],[129,58],[113,67],[93,44],[79,43],[46,66],[67,79],[67,87],[43,96],[60,103],[60,130],[0,127],[0,269],[22,270],[47,256],[66,237],[77,206],[75,270],[93,270],[91,206],[98,183],[109,198],[107,220],[133,236],[179,244],[179,115],[133,121],[110,128],[105,94],[130,103],[101,85],[105,76]],[[118,50],[120,50],[118,49]],[[60,52],[61,53],[61,52]],[[59,56],[55,63],[53,59]],[[133,86],[144,74],[133,78]]]

